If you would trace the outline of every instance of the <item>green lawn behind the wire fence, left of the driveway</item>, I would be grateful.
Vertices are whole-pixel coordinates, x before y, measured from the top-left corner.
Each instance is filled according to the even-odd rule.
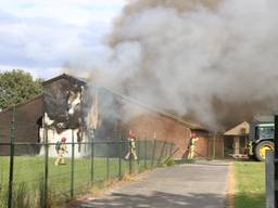
[[[61,205],[71,197],[72,166],[71,158],[66,165],[54,166],[55,158],[49,158],[48,195],[50,204]],[[132,161],[132,172],[144,170],[144,160]],[[154,164],[156,165],[156,162]],[[147,168],[151,161],[147,160]],[[15,157],[14,191],[27,198],[29,207],[36,207],[41,199],[45,158],[36,156]],[[122,159],[122,176],[129,173],[129,161]],[[118,179],[118,158],[94,158],[93,181],[91,182],[91,160],[88,158],[74,160],[74,195],[86,194],[92,188],[99,190]],[[9,157],[0,157],[0,208],[5,207],[9,181]],[[91,186],[93,184],[93,187]],[[18,196],[21,197],[21,196]],[[17,197],[17,198],[18,198]],[[1,207],[2,205],[2,207]],[[28,207],[27,206],[27,207]],[[18,206],[21,207],[21,206]],[[53,206],[54,207],[54,206]]]

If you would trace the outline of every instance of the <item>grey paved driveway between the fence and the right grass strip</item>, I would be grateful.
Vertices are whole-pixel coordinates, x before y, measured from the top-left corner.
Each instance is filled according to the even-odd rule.
[[[80,208],[225,208],[229,164],[156,169]]]

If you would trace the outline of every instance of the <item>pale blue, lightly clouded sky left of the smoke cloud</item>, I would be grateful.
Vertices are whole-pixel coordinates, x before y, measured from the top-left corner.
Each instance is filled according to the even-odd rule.
[[[101,48],[125,0],[0,0],[0,70],[49,78]]]

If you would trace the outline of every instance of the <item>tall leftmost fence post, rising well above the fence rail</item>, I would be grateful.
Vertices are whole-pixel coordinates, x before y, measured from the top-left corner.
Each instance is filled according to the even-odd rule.
[[[13,107],[12,121],[10,125],[10,176],[9,176],[8,208],[13,207],[14,139],[15,139],[15,107]]]

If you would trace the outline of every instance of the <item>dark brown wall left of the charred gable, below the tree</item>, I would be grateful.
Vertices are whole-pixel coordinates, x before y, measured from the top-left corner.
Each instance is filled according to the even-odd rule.
[[[0,113],[0,143],[10,142],[10,123],[13,108]],[[21,143],[38,143],[39,128],[43,115],[43,98],[37,96],[28,102],[15,106],[15,141]],[[36,155],[39,153],[38,144],[16,145],[15,155]],[[10,153],[10,146],[0,145],[0,155]]]

